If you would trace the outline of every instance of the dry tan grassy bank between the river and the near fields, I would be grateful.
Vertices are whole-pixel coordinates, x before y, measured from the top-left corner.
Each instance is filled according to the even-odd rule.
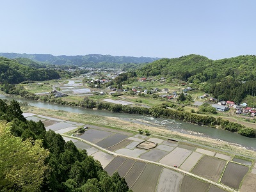
[[[61,118],[63,120],[72,120],[81,122],[83,124],[93,124],[111,127],[113,129],[126,129],[127,131],[138,131],[139,129],[148,130],[150,134],[157,134],[159,136],[165,136],[177,140],[189,141],[198,145],[204,145],[205,147],[216,148],[217,150],[225,150],[243,156],[256,157],[256,152],[248,150],[234,143],[228,143],[226,141],[214,140],[211,138],[205,138],[202,136],[195,136],[190,134],[184,134],[176,131],[170,131],[163,127],[150,126],[149,124],[136,124],[134,122],[128,122],[116,117],[70,113],[63,110],[52,110],[45,108],[35,108],[32,106],[22,106],[22,111],[28,113],[36,113],[38,115],[47,115],[54,118]]]

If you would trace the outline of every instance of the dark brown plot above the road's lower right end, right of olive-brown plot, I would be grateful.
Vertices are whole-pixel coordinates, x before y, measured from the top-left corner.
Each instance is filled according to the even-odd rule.
[[[225,172],[221,178],[221,182],[230,188],[238,189],[248,170],[248,166],[228,162]]]

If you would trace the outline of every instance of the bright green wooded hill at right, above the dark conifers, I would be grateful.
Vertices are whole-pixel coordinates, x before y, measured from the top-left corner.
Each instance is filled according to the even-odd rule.
[[[177,78],[190,83],[202,83],[209,79],[232,76],[239,81],[249,81],[256,77],[256,56],[237,56],[222,60],[210,60],[205,56],[190,54],[180,58],[148,63],[136,71],[138,76],[162,76]]]

